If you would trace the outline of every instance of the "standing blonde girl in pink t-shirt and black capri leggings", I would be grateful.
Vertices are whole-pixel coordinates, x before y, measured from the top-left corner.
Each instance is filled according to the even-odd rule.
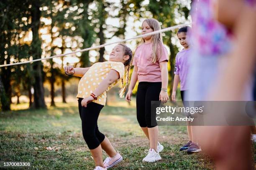
[[[141,27],[142,34],[160,29],[161,26],[155,19],[144,20]],[[150,149],[148,155],[143,158],[143,162],[161,160],[159,152],[164,149],[163,145],[158,142],[158,126],[156,115],[151,116],[151,101],[161,100],[162,103],[166,103],[169,100],[167,62],[167,50],[163,45],[161,33],[144,36],[134,54],[133,73],[125,97],[128,102],[131,101],[132,91],[138,80],[137,120],[150,141]]]

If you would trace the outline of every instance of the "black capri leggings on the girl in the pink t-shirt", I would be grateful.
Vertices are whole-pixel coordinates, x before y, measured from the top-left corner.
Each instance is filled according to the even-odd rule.
[[[154,128],[157,126],[156,114],[151,117],[151,101],[159,101],[162,82],[139,82],[136,108],[137,120],[142,128]],[[158,105],[158,104],[157,104]],[[160,105],[160,102],[159,102]],[[158,107],[158,106],[156,106]],[[156,113],[156,112],[154,112]]]

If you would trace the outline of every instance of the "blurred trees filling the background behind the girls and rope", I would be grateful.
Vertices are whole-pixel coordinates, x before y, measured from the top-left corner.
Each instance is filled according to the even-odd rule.
[[[5,0],[0,1],[0,64],[49,57],[113,42],[141,33],[146,18],[162,28],[189,22],[187,0]],[[169,50],[169,92],[176,53],[181,50],[177,30],[163,33]],[[133,52],[141,40],[126,42]],[[90,67],[108,60],[114,45],[32,64],[0,68],[0,108],[26,97],[30,108],[55,106],[76,96],[79,79],[64,74],[65,65]],[[67,88],[68,86],[68,88]],[[136,93],[136,89],[134,90]],[[169,93],[170,95],[170,93]],[[48,100],[47,100],[48,101]],[[22,101],[23,102],[23,101]]]

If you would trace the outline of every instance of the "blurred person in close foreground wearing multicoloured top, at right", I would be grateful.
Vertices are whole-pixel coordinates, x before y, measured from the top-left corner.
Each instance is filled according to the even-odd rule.
[[[252,100],[256,66],[255,0],[198,0],[192,8],[194,50],[190,101]],[[233,110],[223,112],[233,115]],[[215,114],[214,110],[206,110]],[[250,126],[197,127],[202,150],[217,169],[253,169]]]

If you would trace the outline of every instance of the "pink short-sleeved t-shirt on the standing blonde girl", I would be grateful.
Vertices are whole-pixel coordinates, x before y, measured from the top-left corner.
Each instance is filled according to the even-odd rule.
[[[159,62],[168,61],[167,50],[161,44],[157,50],[157,61],[151,63],[152,43],[142,44],[135,50],[133,65],[138,67],[138,82],[161,82],[161,69]],[[161,49],[161,50],[160,50]]]

